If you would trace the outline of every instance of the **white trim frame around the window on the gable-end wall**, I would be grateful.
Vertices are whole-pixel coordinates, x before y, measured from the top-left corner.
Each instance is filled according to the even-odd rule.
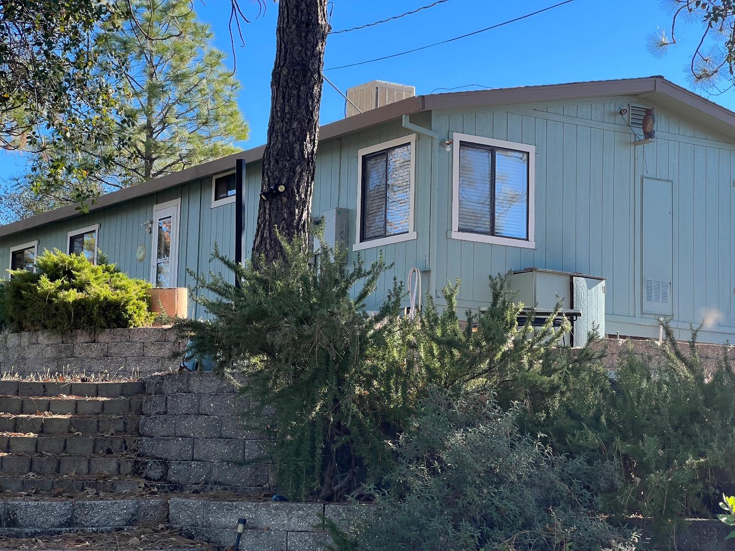
[[[490,145],[496,148],[514,149],[528,153],[528,240],[517,240],[512,237],[495,235],[473,234],[469,231],[459,231],[459,144],[461,142]],[[526,143],[506,142],[492,138],[473,136],[472,134],[452,134],[452,228],[447,237],[455,240],[474,241],[478,243],[492,243],[518,248],[536,248],[534,229],[536,219],[536,147]]]

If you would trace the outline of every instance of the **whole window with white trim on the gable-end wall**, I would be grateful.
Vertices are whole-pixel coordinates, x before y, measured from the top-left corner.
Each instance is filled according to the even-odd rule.
[[[465,134],[453,146],[450,237],[534,248],[534,146]]]

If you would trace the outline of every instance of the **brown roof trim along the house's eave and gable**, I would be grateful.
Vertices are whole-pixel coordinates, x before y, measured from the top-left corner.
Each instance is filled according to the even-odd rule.
[[[547,84],[415,96],[321,126],[319,140],[331,140],[335,137],[399,118],[401,115],[412,115],[431,109],[530,104],[539,101],[565,101],[606,96],[645,96],[664,105],[675,104],[678,107],[695,109],[698,115],[704,115],[707,123],[713,129],[725,135],[735,135],[735,112],[689,92],[689,90],[667,81],[662,76],[645,76],[638,79],[572,82],[569,84]],[[265,151],[265,145],[259,145],[256,148],[240,151],[222,159],[205,162],[161,178],[143,182],[143,184],[102,195],[98,198],[96,205],[90,206],[90,211],[167,190],[187,181],[212,176],[225,170],[232,170],[236,159],[245,159],[246,163],[257,162],[262,159],[263,151]],[[7,226],[0,226],[0,237],[79,215],[79,211],[76,210],[74,205],[64,206],[25,220],[19,220]]]

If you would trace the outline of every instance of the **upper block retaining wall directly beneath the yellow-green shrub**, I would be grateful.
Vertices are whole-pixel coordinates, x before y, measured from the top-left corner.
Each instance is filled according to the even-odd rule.
[[[107,373],[137,378],[178,370],[185,345],[171,328],[0,334],[0,374]]]

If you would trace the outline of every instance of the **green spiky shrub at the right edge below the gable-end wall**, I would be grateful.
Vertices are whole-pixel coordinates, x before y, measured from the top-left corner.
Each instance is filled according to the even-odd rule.
[[[706,374],[696,331],[689,354],[664,331],[659,361],[623,352],[613,380],[596,360],[566,371],[526,428],[559,453],[616,461],[625,485],[606,496],[608,511],[668,530],[686,516],[711,517],[721,486],[735,480],[735,376],[726,356]]]

